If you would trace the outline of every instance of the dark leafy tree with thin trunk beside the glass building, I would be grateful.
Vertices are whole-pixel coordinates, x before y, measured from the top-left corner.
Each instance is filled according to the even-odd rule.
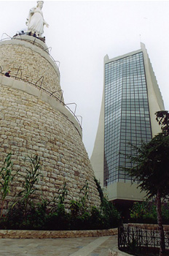
[[[128,156],[133,167],[124,167],[133,182],[146,191],[149,198],[155,197],[157,206],[157,224],[160,230],[160,256],[165,253],[165,236],[162,226],[161,200],[169,195],[169,114],[168,111],[156,113],[157,121],[162,125],[162,132],[149,143],[142,143],[135,148],[135,155]]]

